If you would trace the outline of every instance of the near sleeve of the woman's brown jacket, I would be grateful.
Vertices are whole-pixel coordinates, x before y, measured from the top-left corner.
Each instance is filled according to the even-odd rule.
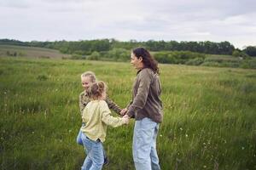
[[[129,106],[129,110],[127,111],[128,116],[134,116],[137,110],[143,109],[143,107],[146,105],[151,79],[152,77],[148,71],[143,70],[138,75],[137,94],[134,97],[132,104]]]

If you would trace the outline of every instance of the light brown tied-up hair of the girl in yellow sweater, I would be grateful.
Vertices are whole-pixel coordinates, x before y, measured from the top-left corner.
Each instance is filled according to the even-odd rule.
[[[105,82],[93,82],[88,90],[90,99],[99,99],[102,93],[107,90],[107,85]]]

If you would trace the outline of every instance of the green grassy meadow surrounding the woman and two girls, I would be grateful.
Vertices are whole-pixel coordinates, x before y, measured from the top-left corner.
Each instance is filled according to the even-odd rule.
[[[0,58],[0,168],[79,169],[80,74],[94,71],[121,107],[131,99],[129,63]],[[164,121],[157,150],[169,169],[256,169],[256,71],[160,65]],[[114,114],[113,114],[114,115]],[[110,164],[134,169],[134,121],[108,127]]]

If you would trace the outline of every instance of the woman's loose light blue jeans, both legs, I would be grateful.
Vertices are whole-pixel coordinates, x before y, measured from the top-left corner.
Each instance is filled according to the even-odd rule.
[[[159,123],[148,117],[135,122],[132,155],[137,170],[160,170],[156,151],[158,129]]]

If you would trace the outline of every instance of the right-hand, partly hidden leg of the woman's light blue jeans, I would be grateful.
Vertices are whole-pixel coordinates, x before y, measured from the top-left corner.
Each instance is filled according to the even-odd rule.
[[[159,158],[156,151],[156,137],[159,129],[159,124],[154,128],[153,144],[151,146],[150,158],[152,170],[160,170]]]

